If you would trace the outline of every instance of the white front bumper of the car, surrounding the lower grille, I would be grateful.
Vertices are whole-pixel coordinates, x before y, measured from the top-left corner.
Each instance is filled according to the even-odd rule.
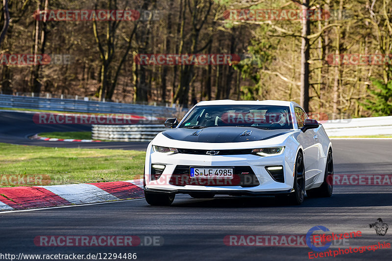
[[[165,165],[165,169],[157,180],[151,180],[151,165]],[[243,186],[244,184],[202,184],[186,183],[183,186],[173,185],[173,173],[177,166],[203,166],[203,167],[250,167],[257,180],[256,185]],[[284,182],[277,182],[267,171],[266,166],[283,166]],[[168,193],[210,192],[214,194],[229,195],[265,195],[289,193],[293,189],[294,162],[290,155],[284,152],[281,155],[260,157],[252,154],[244,155],[190,155],[190,154],[164,154],[154,152],[148,146],[145,166],[145,190]],[[246,172],[244,172],[246,173]],[[240,173],[241,175],[241,173]],[[154,179],[154,178],[152,178]],[[176,186],[177,185],[177,186]],[[236,186],[238,185],[238,186]]]

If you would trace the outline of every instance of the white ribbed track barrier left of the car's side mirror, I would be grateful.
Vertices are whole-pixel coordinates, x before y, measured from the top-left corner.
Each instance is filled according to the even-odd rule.
[[[94,140],[117,142],[150,142],[155,136],[167,128],[163,124],[148,125],[93,125]]]

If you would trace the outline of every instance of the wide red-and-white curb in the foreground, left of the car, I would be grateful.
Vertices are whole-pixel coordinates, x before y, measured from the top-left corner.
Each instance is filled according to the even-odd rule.
[[[0,211],[68,206],[143,197],[143,179],[0,188]]]

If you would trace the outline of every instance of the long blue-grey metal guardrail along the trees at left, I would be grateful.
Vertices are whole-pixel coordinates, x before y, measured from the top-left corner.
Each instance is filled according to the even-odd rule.
[[[0,107],[85,113],[123,113],[155,117],[170,117],[177,112],[176,108],[164,106],[14,95],[0,95]]]

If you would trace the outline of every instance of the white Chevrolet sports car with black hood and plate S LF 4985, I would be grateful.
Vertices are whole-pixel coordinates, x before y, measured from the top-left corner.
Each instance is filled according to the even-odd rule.
[[[295,102],[201,101],[148,145],[144,192],[150,205],[195,198],[274,195],[301,204],[332,195],[332,144]]]

